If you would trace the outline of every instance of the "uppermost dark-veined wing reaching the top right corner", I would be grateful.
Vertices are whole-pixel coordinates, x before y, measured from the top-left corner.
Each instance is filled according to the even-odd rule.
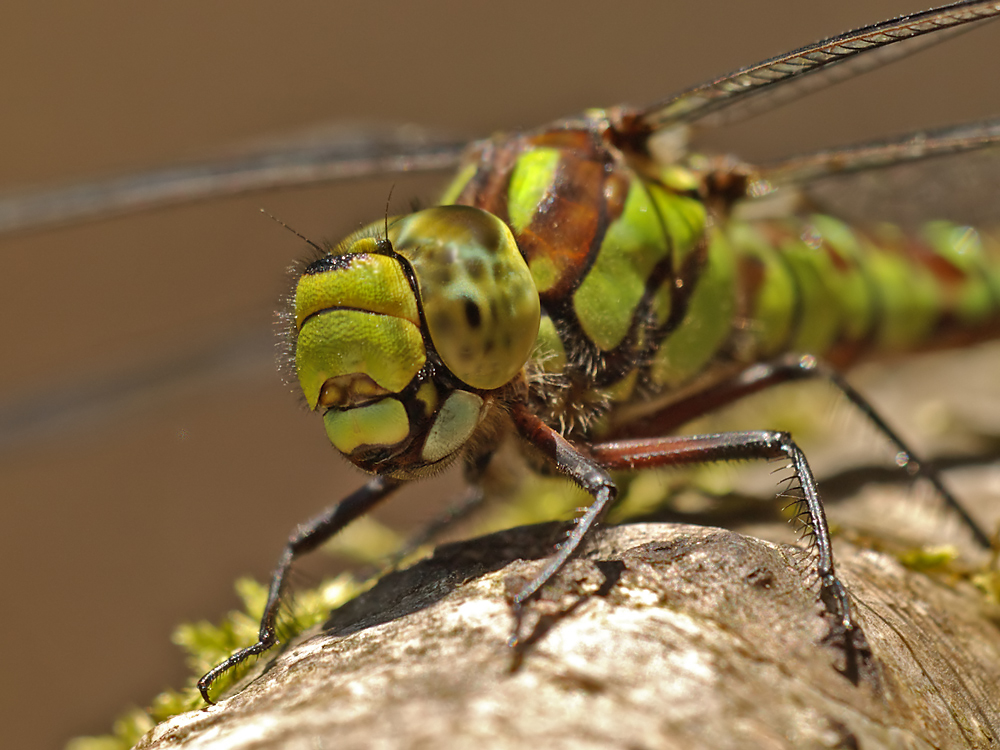
[[[656,131],[697,123],[717,127],[879,68],[1000,15],[1000,2],[958,2],[863,26],[682,91],[637,118]]]

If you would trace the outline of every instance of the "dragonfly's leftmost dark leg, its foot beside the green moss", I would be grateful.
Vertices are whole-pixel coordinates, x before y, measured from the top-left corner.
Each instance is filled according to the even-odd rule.
[[[281,595],[284,591],[288,572],[295,559],[301,555],[311,552],[319,547],[323,542],[332,537],[338,531],[354,521],[359,516],[363,516],[372,509],[379,501],[385,499],[393,490],[400,486],[402,482],[396,479],[376,477],[361,489],[348,495],[336,505],[328,508],[320,515],[300,525],[289,537],[285,544],[285,549],[278,559],[278,565],[271,576],[271,587],[267,592],[267,604],[264,606],[264,614],[260,620],[260,633],[257,642],[252,646],[240,649],[224,662],[206,672],[198,680],[198,690],[206,703],[215,701],[208,694],[212,683],[220,675],[246,661],[255,654],[261,654],[278,642],[275,622],[278,617],[278,607],[281,604]]]

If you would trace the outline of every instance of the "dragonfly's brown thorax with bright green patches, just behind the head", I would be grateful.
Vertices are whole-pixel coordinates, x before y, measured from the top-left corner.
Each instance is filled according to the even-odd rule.
[[[634,369],[650,331],[681,316],[672,290],[704,233],[701,202],[642,179],[586,129],[495,140],[472,161],[445,197],[506,218],[570,359]]]

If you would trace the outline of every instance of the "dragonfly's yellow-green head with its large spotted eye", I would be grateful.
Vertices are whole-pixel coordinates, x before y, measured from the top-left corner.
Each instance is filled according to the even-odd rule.
[[[515,381],[540,305],[510,229],[439,206],[348,237],[295,289],[295,372],[353,463],[410,479],[457,456]]]

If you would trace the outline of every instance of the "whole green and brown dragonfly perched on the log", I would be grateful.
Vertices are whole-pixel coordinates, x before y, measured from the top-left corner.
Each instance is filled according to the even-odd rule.
[[[517,613],[614,503],[610,471],[780,459],[800,490],[829,638],[849,662],[868,658],[850,592],[837,576],[817,483],[793,437],[672,431],[759,390],[827,378],[988,546],[987,530],[913,456],[891,419],[838,373],[871,354],[996,336],[1000,245],[944,221],[916,233],[855,228],[799,197],[831,174],[988,148],[1000,142],[1000,125],[914,133],[772,165],[689,151],[686,135],[997,15],[998,2],[916,13],[652,107],[588,111],[465,149],[416,144],[319,157],[329,163],[320,176],[333,179],[388,171],[399,160],[417,170],[457,166],[458,174],[439,206],[375,220],[323,250],[298,279],[287,316],[291,367],[332,444],[376,476],[292,537],[258,642],[202,678],[205,699],[220,674],[276,642],[276,613],[297,556],[402,484],[450,462],[462,462],[475,487],[507,435],[593,497],[547,565],[513,597]],[[164,172],[144,177],[142,190],[123,181],[13,200],[0,205],[0,217],[13,228],[187,200],[192,183],[218,192],[212,180],[234,171],[249,176],[240,189],[252,186],[254,175],[258,184],[280,183],[273,166],[209,169],[208,179]],[[775,200],[789,195],[795,200]]]

